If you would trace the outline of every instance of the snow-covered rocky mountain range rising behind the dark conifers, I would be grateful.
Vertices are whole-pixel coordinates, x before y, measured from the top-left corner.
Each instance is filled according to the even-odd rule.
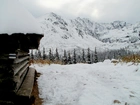
[[[126,48],[140,50],[140,22],[97,23],[87,18],[65,19],[55,13],[38,18],[44,32],[40,48],[71,51],[90,48],[104,51]]]

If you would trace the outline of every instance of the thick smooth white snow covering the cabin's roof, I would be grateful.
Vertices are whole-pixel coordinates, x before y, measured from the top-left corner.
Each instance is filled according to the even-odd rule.
[[[0,0],[0,34],[42,34],[37,20],[18,0]]]

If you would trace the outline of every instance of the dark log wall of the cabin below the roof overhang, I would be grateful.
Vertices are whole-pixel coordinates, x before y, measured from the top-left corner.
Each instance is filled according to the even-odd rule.
[[[16,53],[0,54],[0,105],[14,105],[29,69],[29,54],[18,50]]]

